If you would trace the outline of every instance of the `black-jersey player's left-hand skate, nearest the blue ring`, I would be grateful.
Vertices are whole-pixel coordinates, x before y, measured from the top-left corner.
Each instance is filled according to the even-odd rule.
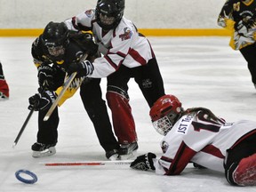
[[[42,157],[42,156],[52,156],[56,153],[55,149],[56,144],[44,144],[44,143],[34,143],[31,149],[33,150],[33,157]]]

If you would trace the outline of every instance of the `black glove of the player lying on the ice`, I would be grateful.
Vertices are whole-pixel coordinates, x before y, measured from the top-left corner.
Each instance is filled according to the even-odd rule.
[[[156,170],[153,158],[156,158],[156,155],[153,153],[148,153],[143,156],[137,156],[137,158],[132,162],[130,167],[132,169],[138,169],[142,171]]]

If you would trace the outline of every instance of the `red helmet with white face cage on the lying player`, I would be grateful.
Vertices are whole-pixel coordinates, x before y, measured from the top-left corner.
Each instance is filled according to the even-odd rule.
[[[172,94],[164,95],[154,103],[149,116],[156,132],[166,135],[180,118],[181,102]]]

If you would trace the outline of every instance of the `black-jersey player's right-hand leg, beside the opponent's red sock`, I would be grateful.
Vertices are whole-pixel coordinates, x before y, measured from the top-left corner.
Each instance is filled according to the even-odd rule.
[[[112,131],[105,100],[102,100],[100,79],[88,78],[80,87],[81,99],[92,120],[100,145],[110,160],[118,158],[119,144]]]

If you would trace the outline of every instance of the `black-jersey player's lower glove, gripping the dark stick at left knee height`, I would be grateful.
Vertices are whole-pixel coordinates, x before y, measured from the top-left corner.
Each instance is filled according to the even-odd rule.
[[[45,91],[42,93],[36,93],[28,99],[28,109],[32,110],[34,108],[35,111],[38,111],[51,108],[52,102],[54,102],[56,98],[57,95],[55,92]]]

